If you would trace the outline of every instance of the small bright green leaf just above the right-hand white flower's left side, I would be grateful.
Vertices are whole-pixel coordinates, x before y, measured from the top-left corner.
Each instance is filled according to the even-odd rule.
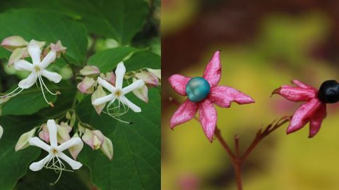
[[[88,59],[88,65],[95,65],[100,72],[112,71],[120,61],[137,51],[133,47],[117,47],[95,53]]]

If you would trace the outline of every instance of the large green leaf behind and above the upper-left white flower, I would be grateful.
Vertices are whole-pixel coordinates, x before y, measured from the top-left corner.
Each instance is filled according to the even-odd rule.
[[[88,43],[85,27],[55,11],[8,11],[0,14],[0,28],[0,40],[13,35],[20,35],[27,41],[36,39],[54,44],[60,40],[67,48],[66,58],[71,63],[82,65],[85,62]]]

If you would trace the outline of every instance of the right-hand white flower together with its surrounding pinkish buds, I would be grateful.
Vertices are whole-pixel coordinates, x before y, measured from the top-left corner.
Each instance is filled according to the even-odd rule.
[[[160,84],[160,70],[145,68],[126,73],[123,62],[118,63],[115,74],[114,72],[100,73],[99,68],[93,65],[85,66],[80,73],[84,77],[78,84],[78,90],[83,94],[92,94],[92,104],[97,114],[102,112],[108,102],[103,112],[121,122],[126,121],[119,117],[127,113],[129,109],[136,113],[141,112],[140,107],[126,98],[126,94],[132,91],[139,99],[148,102],[147,86],[154,87]],[[133,81],[127,87],[123,87],[124,79],[127,82],[129,79]],[[102,87],[109,91],[108,95]]]

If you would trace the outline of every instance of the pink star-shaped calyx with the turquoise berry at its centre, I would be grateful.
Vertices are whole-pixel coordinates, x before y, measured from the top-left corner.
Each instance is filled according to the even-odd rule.
[[[239,104],[254,103],[250,96],[231,87],[217,86],[221,77],[220,51],[216,51],[206,65],[203,77],[185,77],[172,75],[169,83],[172,88],[188,99],[173,114],[170,127],[173,129],[179,124],[187,122],[199,113],[199,120],[209,141],[213,141],[213,134],[217,124],[217,111],[213,103],[222,108],[229,108],[232,101]]]

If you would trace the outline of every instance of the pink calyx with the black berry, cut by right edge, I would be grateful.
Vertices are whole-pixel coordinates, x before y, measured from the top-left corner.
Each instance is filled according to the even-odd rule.
[[[309,138],[319,132],[321,122],[326,118],[326,103],[339,101],[339,84],[335,80],[327,80],[318,89],[303,84],[299,80],[292,80],[296,85],[284,85],[275,89],[272,94],[280,94],[290,101],[304,101],[292,115],[287,134],[295,132],[309,122]]]

